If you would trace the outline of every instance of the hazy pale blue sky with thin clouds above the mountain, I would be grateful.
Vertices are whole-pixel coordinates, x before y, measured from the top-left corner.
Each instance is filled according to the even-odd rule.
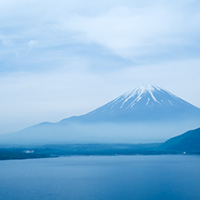
[[[141,84],[200,107],[199,0],[0,1],[0,133]]]

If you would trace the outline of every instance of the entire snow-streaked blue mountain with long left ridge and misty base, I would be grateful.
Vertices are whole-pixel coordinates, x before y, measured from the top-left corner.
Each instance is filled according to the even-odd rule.
[[[200,109],[157,86],[140,86],[85,115],[3,134],[0,144],[163,142],[200,125]]]

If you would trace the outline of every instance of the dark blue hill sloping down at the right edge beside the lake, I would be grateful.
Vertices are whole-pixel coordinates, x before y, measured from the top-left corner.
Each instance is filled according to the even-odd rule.
[[[162,148],[178,152],[200,152],[200,128],[167,140]]]

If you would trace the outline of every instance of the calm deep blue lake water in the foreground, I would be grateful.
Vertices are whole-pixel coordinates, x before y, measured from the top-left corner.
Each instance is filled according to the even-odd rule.
[[[0,200],[200,199],[200,156],[0,161]]]

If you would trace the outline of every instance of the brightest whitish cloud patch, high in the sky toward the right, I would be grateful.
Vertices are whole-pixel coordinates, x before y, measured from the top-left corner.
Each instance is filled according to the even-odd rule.
[[[177,54],[174,48],[196,48],[200,39],[199,13],[185,4],[172,6],[118,7],[95,17],[76,16],[66,26],[80,33],[79,41],[96,42],[126,58],[171,56]]]

